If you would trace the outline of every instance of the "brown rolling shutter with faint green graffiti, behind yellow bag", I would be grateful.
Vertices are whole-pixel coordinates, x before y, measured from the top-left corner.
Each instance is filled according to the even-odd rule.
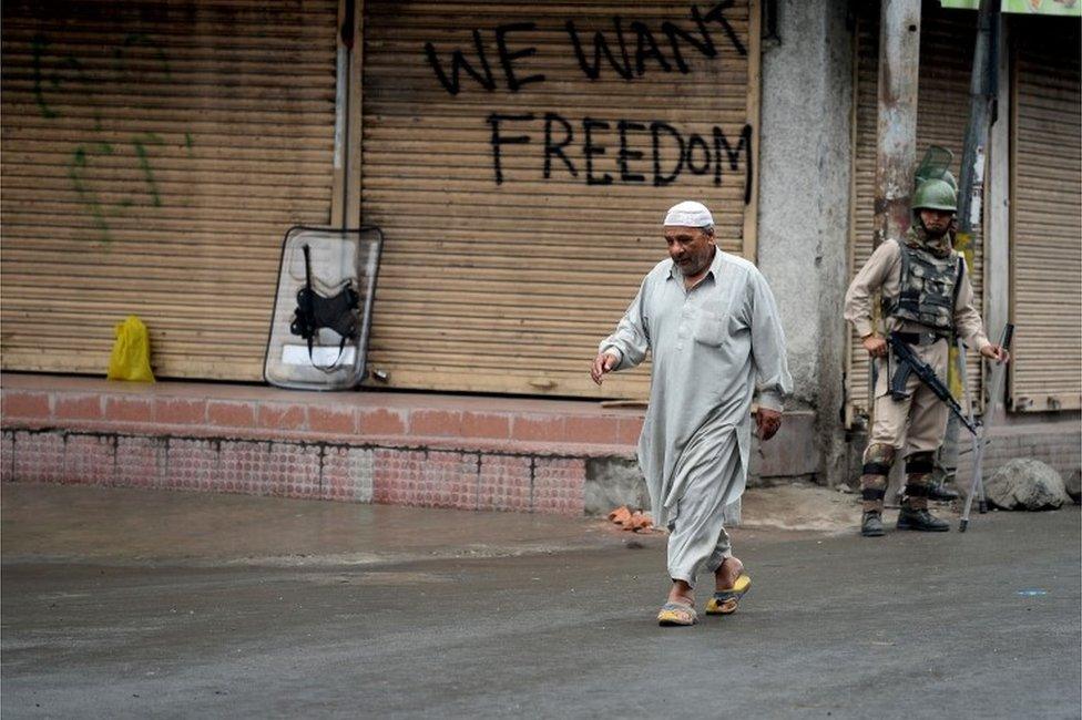
[[[6,370],[257,380],[280,239],[330,219],[336,0],[3,3]]]

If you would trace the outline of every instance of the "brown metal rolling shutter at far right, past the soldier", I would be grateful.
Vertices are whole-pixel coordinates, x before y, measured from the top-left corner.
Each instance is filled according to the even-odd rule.
[[[1079,24],[1019,18],[1011,177],[1017,411],[1082,407],[1082,93]]]

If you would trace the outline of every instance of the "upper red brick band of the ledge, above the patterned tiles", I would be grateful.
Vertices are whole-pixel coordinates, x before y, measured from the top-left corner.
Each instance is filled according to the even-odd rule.
[[[4,374],[6,429],[541,452],[634,453],[643,411],[590,401],[295,392]]]

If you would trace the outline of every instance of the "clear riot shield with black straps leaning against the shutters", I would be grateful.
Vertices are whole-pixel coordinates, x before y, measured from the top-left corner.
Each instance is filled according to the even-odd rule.
[[[264,379],[347,390],[365,379],[382,233],[296,226],[282,243]]]

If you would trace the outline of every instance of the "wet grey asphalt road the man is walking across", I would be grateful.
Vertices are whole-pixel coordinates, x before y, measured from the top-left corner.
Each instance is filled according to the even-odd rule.
[[[0,713],[1082,716],[1078,507],[870,539],[829,493],[749,491],[739,611],[660,628],[665,536],[602,520],[4,484]]]

